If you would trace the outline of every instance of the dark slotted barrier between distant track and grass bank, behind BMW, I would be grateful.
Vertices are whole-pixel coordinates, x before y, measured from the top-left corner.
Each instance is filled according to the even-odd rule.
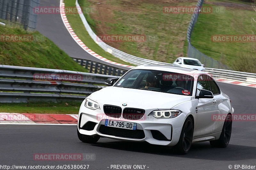
[[[105,74],[105,75],[116,75],[122,76],[130,68],[127,67],[127,70],[121,70],[115,67],[110,67],[104,64],[100,64],[91,60],[77,59],[73,58],[79,65],[89,70],[90,73],[94,74]]]

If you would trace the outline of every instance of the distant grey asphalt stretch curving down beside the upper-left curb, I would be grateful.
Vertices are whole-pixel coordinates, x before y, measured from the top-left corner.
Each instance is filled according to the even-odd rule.
[[[60,0],[41,0],[40,6],[59,7]],[[110,64],[97,59],[84,51],[84,49],[82,49],[69,34],[60,14],[39,14],[37,30],[47,38],[51,39],[60,49],[65,51],[72,58],[92,60],[108,66],[129,70],[127,67]]]

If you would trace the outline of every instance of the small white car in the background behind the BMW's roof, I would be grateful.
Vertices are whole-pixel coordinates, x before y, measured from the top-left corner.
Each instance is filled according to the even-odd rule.
[[[199,70],[199,71],[205,71],[204,64],[202,64],[197,59],[188,58],[188,57],[179,57],[179,58],[177,58],[174,61],[173,66],[191,68],[191,69]]]

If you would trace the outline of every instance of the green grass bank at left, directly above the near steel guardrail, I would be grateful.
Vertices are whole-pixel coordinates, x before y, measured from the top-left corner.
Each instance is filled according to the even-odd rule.
[[[3,39],[5,35],[28,35],[28,32],[18,28],[0,26],[0,35],[2,36],[0,40],[0,64],[87,72],[85,68],[78,65],[39,32],[32,33],[33,39],[30,41],[5,41]]]

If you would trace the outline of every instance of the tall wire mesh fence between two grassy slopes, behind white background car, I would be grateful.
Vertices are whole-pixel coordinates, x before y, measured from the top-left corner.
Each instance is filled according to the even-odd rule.
[[[196,4],[197,8],[200,9],[202,7],[203,3],[204,3],[204,0],[198,0],[198,2]],[[220,61],[212,59],[211,57],[205,55],[204,53],[201,53],[194,46],[192,46],[192,44],[190,42],[190,38],[191,38],[191,34],[192,34],[193,28],[196,24],[199,13],[200,12],[193,13],[190,23],[188,25],[188,31],[187,31],[188,57],[196,58],[196,59],[200,60],[205,65],[205,67],[230,70],[230,68],[227,67],[225,64],[222,64]]]

